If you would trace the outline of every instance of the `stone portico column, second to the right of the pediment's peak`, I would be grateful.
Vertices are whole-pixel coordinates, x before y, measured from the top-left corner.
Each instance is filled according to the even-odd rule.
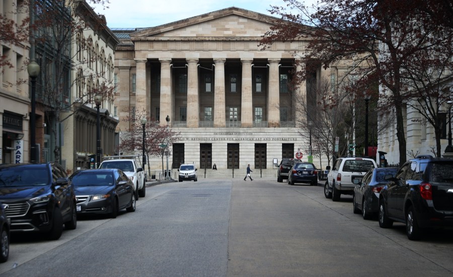
[[[267,97],[268,127],[280,126],[280,86],[278,62],[280,59],[268,59],[269,62],[269,93]]]

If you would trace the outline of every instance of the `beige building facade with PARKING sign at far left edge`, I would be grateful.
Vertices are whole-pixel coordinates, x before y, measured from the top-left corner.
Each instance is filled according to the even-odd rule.
[[[20,0],[0,0],[2,18],[20,25],[28,17],[27,13],[28,8]],[[26,83],[29,49],[28,41],[17,45],[0,41],[0,56],[10,63],[0,66],[0,163],[28,162],[30,159],[30,98]]]

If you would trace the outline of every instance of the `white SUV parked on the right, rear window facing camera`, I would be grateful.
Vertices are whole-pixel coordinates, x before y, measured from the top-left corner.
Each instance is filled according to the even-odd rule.
[[[340,200],[341,194],[352,195],[355,187],[353,181],[355,179],[361,181],[369,169],[377,167],[376,162],[370,158],[338,158],[327,175],[324,195],[333,201]]]

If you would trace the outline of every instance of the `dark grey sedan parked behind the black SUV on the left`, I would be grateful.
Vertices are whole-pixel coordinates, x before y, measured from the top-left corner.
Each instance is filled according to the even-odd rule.
[[[77,196],[78,214],[108,214],[116,218],[122,209],[135,212],[134,184],[121,170],[79,170],[70,179]]]

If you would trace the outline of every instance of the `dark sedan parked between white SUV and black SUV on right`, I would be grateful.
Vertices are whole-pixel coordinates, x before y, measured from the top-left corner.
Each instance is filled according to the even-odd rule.
[[[354,184],[357,184],[352,194],[354,214],[362,213],[363,219],[378,214],[379,193],[389,183],[386,177],[395,176],[397,170],[396,167],[373,168],[366,172],[362,181],[354,180]]]

